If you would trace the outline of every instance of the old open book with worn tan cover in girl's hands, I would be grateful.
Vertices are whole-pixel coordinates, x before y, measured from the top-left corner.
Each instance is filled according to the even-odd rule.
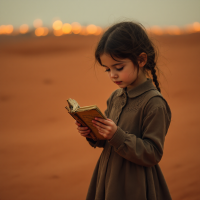
[[[105,140],[92,123],[95,117],[106,119],[100,109],[96,105],[80,107],[78,103],[71,98],[67,99],[67,102],[69,106],[65,108],[68,110],[68,113],[82,126],[87,126],[91,130],[90,136],[92,139],[95,141]]]

